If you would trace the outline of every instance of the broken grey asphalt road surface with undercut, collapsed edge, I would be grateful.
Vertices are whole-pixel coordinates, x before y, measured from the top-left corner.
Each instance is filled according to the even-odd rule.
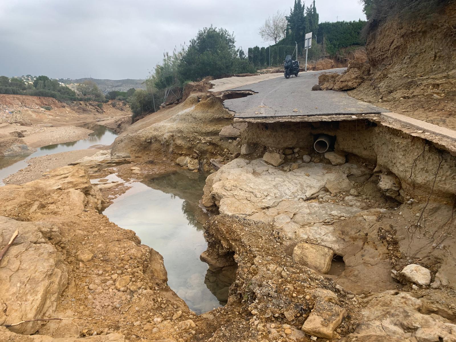
[[[256,92],[244,98],[225,100],[224,106],[235,112],[238,119],[280,118],[290,116],[379,114],[388,109],[359,101],[347,92],[312,91],[318,75],[324,72],[342,73],[345,68],[299,73],[298,77],[273,78],[229,90]]]

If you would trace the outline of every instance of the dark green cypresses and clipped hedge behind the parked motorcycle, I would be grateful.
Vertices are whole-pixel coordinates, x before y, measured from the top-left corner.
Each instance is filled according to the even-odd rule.
[[[315,1],[311,6],[306,7],[301,0],[295,0],[293,8],[290,9],[290,15],[285,18],[287,21],[285,38],[270,47],[249,48],[248,58],[255,67],[269,66],[269,52],[271,66],[282,64],[286,55],[303,58],[306,55],[305,36],[309,32],[312,32],[312,47],[308,51],[309,60],[336,57],[343,47],[365,43],[361,38],[361,31],[366,25],[366,21],[337,21],[319,24]]]

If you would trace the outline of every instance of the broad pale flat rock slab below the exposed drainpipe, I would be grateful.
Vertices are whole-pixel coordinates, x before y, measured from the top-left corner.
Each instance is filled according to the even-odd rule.
[[[302,167],[294,171],[284,172],[261,159],[248,161],[237,158],[207,177],[202,204],[206,207],[216,205],[224,215],[245,215],[273,223],[274,217],[282,212],[297,214],[302,211],[303,215],[306,213],[312,216],[312,212],[308,212],[311,203],[303,201],[325,192],[328,182],[346,184],[348,191],[351,188],[351,183],[339,166],[309,163],[302,164]],[[348,215],[347,212],[347,215],[351,216],[360,211],[357,208],[337,206],[331,208],[334,210],[328,214],[327,209],[330,208],[318,211],[319,206],[321,204],[316,203],[316,207],[312,207],[312,210],[318,212],[320,220],[315,222],[324,221],[328,215],[333,217],[332,212],[336,216],[344,216],[344,212],[350,211],[351,214]],[[302,218],[303,215],[296,217]],[[302,219],[302,224],[305,221]],[[295,223],[284,226],[290,232],[294,232],[295,228]]]

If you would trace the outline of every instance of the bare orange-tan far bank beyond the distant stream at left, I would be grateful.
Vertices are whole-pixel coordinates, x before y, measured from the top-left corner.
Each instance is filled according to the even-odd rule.
[[[100,120],[119,133],[131,122],[130,109],[113,101],[100,108],[96,103],[0,94],[0,156],[29,155],[36,147],[84,139],[90,131],[78,126]]]

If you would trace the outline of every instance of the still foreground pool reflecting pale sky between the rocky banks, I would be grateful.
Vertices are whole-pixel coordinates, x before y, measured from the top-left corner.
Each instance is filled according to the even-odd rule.
[[[214,273],[199,258],[207,249],[207,214],[198,206],[206,176],[182,170],[129,183],[132,188],[103,212],[163,256],[168,285],[197,314],[226,303],[234,274]]]

